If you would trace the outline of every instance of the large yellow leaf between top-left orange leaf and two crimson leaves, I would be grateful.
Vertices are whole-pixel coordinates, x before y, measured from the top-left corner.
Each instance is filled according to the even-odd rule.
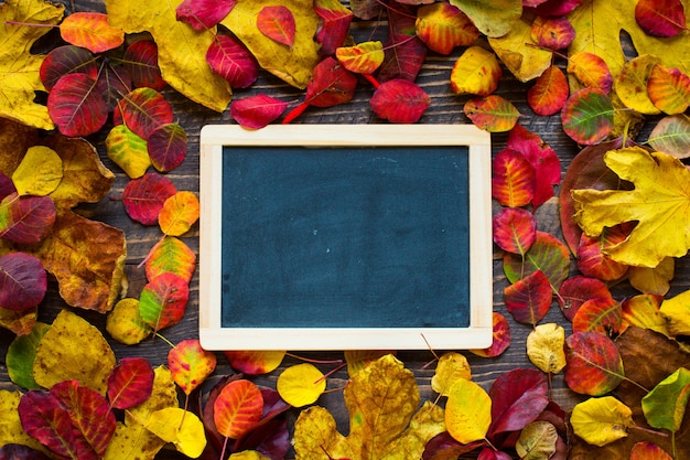
[[[107,0],[106,10],[112,26],[126,33],[151,33],[158,45],[161,75],[170,86],[205,107],[223,111],[233,90],[206,62],[206,51],[213,43],[216,28],[195,31],[177,21],[175,9],[180,3],[182,0]]]

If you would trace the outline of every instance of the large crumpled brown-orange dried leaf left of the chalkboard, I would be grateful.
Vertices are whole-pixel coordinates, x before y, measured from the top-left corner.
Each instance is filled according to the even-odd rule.
[[[60,296],[68,304],[101,313],[112,308],[127,258],[121,229],[58,212],[53,232],[32,254],[57,278]]]

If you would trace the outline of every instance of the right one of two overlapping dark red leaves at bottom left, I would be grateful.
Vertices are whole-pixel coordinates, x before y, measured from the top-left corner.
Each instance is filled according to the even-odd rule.
[[[116,428],[115,415],[106,398],[77,381],[55,384],[50,393],[67,408],[72,426],[78,434],[78,458],[103,459]]]

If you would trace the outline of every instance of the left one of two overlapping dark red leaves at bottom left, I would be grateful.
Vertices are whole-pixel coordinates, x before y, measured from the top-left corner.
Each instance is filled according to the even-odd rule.
[[[76,458],[76,432],[67,409],[48,392],[32,389],[18,406],[24,431],[51,451],[62,457]]]

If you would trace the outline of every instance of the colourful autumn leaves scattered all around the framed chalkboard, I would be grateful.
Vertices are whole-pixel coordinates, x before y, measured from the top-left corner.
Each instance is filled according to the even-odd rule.
[[[690,248],[688,1],[108,0],[106,9],[64,17],[42,0],[0,6],[0,325],[17,335],[6,362],[22,388],[0,391],[0,459],[152,459],[166,445],[234,459],[282,459],[291,448],[310,460],[690,457],[690,291],[668,296],[676,259]],[[384,20],[386,42],[349,34],[353,21]],[[51,28],[61,43],[34,54]],[[622,32],[635,56],[624,53]],[[257,129],[346,104],[364,82],[377,117],[416,122],[432,104],[414,83],[427,56],[457,50],[449,83],[466,98],[459,110],[508,132],[493,160],[494,242],[506,309],[531,328],[533,367],[485,391],[465,355],[445,353],[431,381],[438,398],[422,403],[392,353],[303,362],[266,388],[252,376],[274,372],[287,352],[226,352],[238,373],[196,397],[216,367],[197,340],[171,343],[154,370],[143,359],[118,361],[71,310],[37,321],[48,277],[68,306],[107,314],[107,332],[125,344],[184,318],[196,269],[184,237],[200,205],[166,175],[187,152],[161,93],[168,85],[218,113],[229,105],[237,124]],[[262,71],[304,89],[303,100],[233,100],[233,88]],[[495,94],[505,72],[527,85],[537,116],[560,115],[584,146],[563,178],[557,152]],[[650,135],[636,139],[648,120]],[[122,292],[123,232],[73,211],[106,197],[115,179],[84,139],[97,132],[130,179],[126,213],[161,231],[137,297]],[[564,242],[535,217],[556,186]],[[616,299],[611,287],[624,281],[639,293]],[[568,336],[542,322],[554,300],[572,322]],[[502,354],[508,324],[495,312],[493,345],[472,353]],[[324,366],[347,366],[347,436],[317,405],[334,389]],[[569,411],[551,398],[561,372],[581,395]]]

